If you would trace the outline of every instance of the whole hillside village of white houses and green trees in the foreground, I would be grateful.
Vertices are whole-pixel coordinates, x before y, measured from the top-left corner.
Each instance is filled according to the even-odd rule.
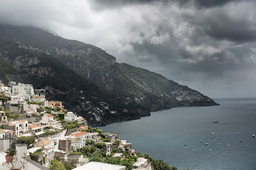
[[[171,168],[136,153],[117,135],[87,126],[61,101],[48,101],[44,89],[14,81],[0,81],[0,162],[6,170]]]

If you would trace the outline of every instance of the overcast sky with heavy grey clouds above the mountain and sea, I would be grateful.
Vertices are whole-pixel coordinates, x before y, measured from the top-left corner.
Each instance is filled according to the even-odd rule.
[[[0,23],[93,44],[210,97],[256,97],[256,2],[0,1]]]

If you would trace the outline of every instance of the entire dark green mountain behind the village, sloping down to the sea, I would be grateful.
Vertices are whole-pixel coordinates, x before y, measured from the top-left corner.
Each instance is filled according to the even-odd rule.
[[[93,45],[34,27],[0,25],[0,37],[0,57],[18,73],[5,81],[45,88],[49,100],[63,101],[90,125],[133,120],[179,106],[217,105],[160,74],[119,64]]]

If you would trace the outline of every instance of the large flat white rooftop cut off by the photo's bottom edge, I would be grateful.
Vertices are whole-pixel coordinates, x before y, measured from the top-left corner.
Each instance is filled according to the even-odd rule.
[[[73,170],[125,170],[126,167],[122,165],[113,165],[113,164],[105,164],[98,162],[90,162],[81,167],[75,168]]]

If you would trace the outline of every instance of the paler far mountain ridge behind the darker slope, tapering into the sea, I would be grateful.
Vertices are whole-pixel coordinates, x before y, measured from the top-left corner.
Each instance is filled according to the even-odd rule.
[[[178,106],[217,105],[211,98],[161,74],[119,64],[114,56],[94,45],[26,26],[0,25],[0,37],[13,39],[45,56],[52,56],[76,74],[124,98],[125,103],[137,105],[140,108],[138,112],[142,113],[137,113],[137,118],[149,116],[152,111]]]

